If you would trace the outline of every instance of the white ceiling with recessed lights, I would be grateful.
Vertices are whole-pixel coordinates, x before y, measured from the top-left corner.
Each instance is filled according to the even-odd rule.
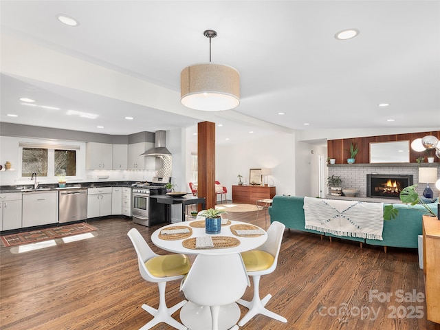
[[[80,25],[63,25],[57,14]],[[347,28],[360,34],[334,38]],[[241,74],[241,104],[234,110],[203,113],[179,103],[181,70],[209,61],[207,29],[218,33],[212,62]],[[2,54],[14,52],[7,36],[153,83],[173,96],[161,107],[146,107],[72,88],[61,78],[58,84],[11,70],[6,56],[1,122],[130,134],[212,120],[223,124],[217,129],[221,141],[246,138],[249,131],[440,127],[440,1],[2,0],[1,34]],[[15,53],[13,64],[19,67],[25,56]],[[56,72],[46,69],[48,75],[62,76],[65,69],[63,78],[74,79],[69,68],[53,64]],[[84,84],[94,78],[90,74]],[[22,105],[21,97],[60,110]],[[391,105],[378,107],[382,102]],[[97,117],[67,115],[72,109]],[[126,115],[135,119],[124,120]]]

